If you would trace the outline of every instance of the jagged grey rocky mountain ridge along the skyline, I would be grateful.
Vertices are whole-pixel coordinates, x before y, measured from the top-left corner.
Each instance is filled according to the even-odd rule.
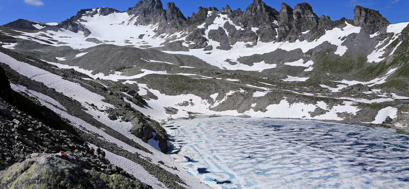
[[[313,12],[312,7],[308,3],[297,4],[294,8],[282,3],[281,10],[277,11],[266,5],[261,0],[255,0],[246,8],[245,12],[241,11],[240,9],[231,10],[229,5],[226,5],[226,8],[222,8],[221,11],[215,7],[199,7],[198,12],[196,14],[193,13],[193,15],[188,18],[186,18],[183,13],[180,12],[174,3],[168,3],[167,9],[163,9],[163,5],[160,0],[140,1],[137,3],[137,5],[129,8],[125,12],[132,17],[138,17],[137,20],[131,23],[133,25],[146,26],[155,25],[158,23],[159,25],[156,31],[156,36],[159,36],[164,33],[174,33],[179,31],[191,32],[194,30],[192,26],[198,26],[203,21],[206,22],[206,25],[211,25],[212,18],[208,18],[209,11],[220,12],[228,15],[228,18],[230,18],[236,26],[240,26],[242,29],[244,29],[244,31],[257,28],[257,31],[247,32],[247,34],[245,34],[246,32],[239,32],[241,35],[235,33],[232,34],[229,32],[229,39],[236,38],[237,40],[237,38],[248,38],[249,36],[257,34],[257,36],[260,38],[258,40],[262,42],[293,42],[297,39],[301,41],[305,39],[312,41],[321,37],[323,32],[325,33],[325,30],[339,27],[345,21],[347,21],[346,18],[332,21],[329,16],[322,15],[319,17]],[[106,16],[115,12],[120,11],[112,8],[101,8],[98,10],[82,9],[75,16],[58,23],[56,26],[47,26],[43,24],[42,26],[44,26],[44,28],[40,30],[56,31],[58,29],[66,29],[72,32],[83,31],[84,36],[87,37],[90,34],[90,31],[83,27],[81,23],[78,23],[79,21],[83,21],[81,19],[82,16]],[[7,23],[4,25],[4,27],[37,30],[32,26],[33,23],[36,22],[19,19]],[[353,24],[355,26],[362,27],[363,31],[373,34],[389,25],[390,22],[386,18],[382,17],[382,15],[379,14],[379,11],[356,6],[354,10]],[[228,29],[229,26],[223,26],[223,28]],[[306,31],[309,31],[308,35],[302,35],[302,33]],[[277,35],[278,37],[276,38]],[[194,38],[191,41],[193,40],[197,39]],[[229,42],[234,44],[236,41],[231,40]]]

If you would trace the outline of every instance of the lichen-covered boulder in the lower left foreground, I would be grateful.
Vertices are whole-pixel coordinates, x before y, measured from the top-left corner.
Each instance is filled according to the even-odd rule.
[[[86,169],[89,167],[82,157],[69,161],[55,154],[35,153],[1,172],[0,188],[149,188],[124,175]]]

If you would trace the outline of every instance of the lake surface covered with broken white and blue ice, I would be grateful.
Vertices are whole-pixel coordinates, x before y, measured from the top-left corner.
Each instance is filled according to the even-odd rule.
[[[214,188],[409,188],[409,136],[403,134],[227,116],[164,127],[175,140],[172,156]]]

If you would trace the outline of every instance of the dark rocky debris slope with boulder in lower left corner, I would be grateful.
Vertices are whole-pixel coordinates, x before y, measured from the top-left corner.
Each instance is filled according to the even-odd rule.
[[[24,97],[21,96],[20,98]],[[29,100],[27,99],[27,101]],[[34,103],[30,105],[33,109],[44,108]],[[6,170],[1,174],[0,187],[9,187],[12,184],[14,184],[15,188],[26,186],[26,184],[33,187],[38,186],[36,185],[38,184],[36,179],[23,179],[24,182],[15,182],[16,179],[27,176],[25,174],[28,174],[29,178],[33,174],[55,175],[56,177],[50,177],[49,180],[41,181],[42,184],[54,188],[63,186],[70,188],[70,186],[74,186],[70,184],[76,182],[70,182],[70,179],[79,181],[78,186],[80,187],[92,185],[96,188],[104,184],[109,185],[108,183],[115,181],[115,179],[121,181],[122,183],[120,184],[124,184],[124,186],[145,187],[145,184],[140,183],[123,169],[111,164],[106,158],[85,153],[82,147],[84,140],[77,131],[69,124],[61,121],[58,115],[47,108],[44,108],[43,117],[37,119],[26,114],[24,111],[18,110],[18,107],[1,100],[0,115],[0,169],[2,171]],[[61,127],[60,124],[64,124],[65,128]],[[55,154],[60,152],[71,154],[77,161],[69,162],[56,158]],[[41,158],[30,159],[35,156],[41,156]],[[29,170],[33,164],[41,164],[44,161],[49,164],[42,165],[45,167],[38,166],[34,167],[34,170]],[[56,163],[63,164],[62,167],[65,167],[67,170],[65,168],[59,169],[60,167],[57,167]],[[48,166],[51,166],[52,169]],[[36,173],[36,171],[41,172],[44,169],[48,170],[48,172]],[[76,174],[78,170],[81,172],[80,175]],[[68,178],[58,177],[58,175],[63,173],[71,173],[71,176]],[[84,175],[86,177],[81,178]],[[37,181],[45,178],[47,177],[38,176],[37,179],[39,180]],[[105,180],[106,178],[111,178],[112,180]],[[61,183],[65,183],[65,185],[58,185],[60,182],[55,182],[53,179],[63,181]],[[106,186],[102,188],[106,188]]]

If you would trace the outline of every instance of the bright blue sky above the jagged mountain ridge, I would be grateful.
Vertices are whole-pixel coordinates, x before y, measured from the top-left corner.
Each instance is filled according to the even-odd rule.
[[[174,2],[181,12],[186,16],[191,16],[192,12],[197,13],[197,8],[216,7],[219,10],[225,5],[229,5],[233,10],[245,8],[253,3],[253,0],[245,1],[192,1],[192,0],[173,0],[162,1],[164,9],[168,2]],[[290,7],[298,3],[307,2],[311,5],[313,11],[318,16],[330,16],[332,20],[338,20],[342,17],[353,19],[353,10],[356,5],[375,9],[386,17],[391,23],[409,21],[409,1],[408,0],[349,0],[349,1],[322,1],[322,0],[264,0],[264,2],[280,11],[281,2]],[[0,25],[19,18],[40,22],[61,22],[77,14],[77,11],[87,8],[110,7],[119,11],[126,11],[129,7],[135,6],[138,1],[135,0],[0,0]]]

